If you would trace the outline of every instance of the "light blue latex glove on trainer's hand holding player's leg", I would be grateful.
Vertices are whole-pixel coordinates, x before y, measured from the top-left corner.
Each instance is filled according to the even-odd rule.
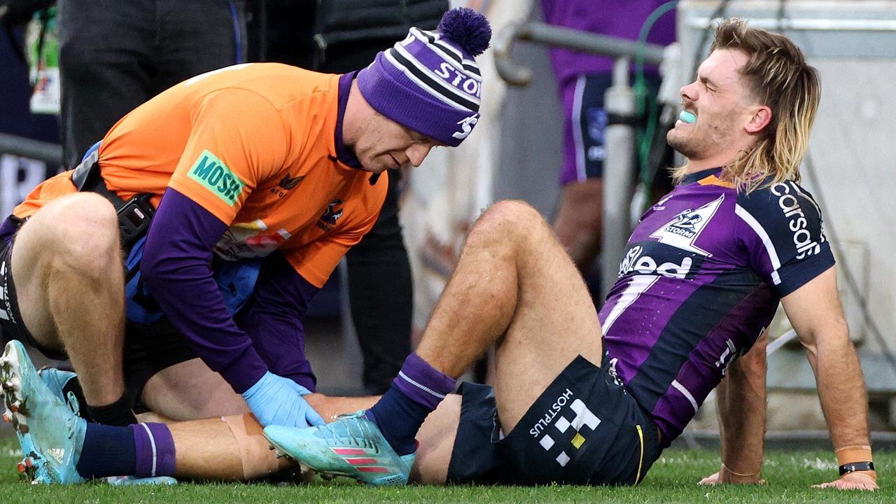
[[[302,397],[306,394],[311,394],[306,387],[268,371],[243,393],[243,398],[263,427],[323,425],[325,422],[321,415]]]

